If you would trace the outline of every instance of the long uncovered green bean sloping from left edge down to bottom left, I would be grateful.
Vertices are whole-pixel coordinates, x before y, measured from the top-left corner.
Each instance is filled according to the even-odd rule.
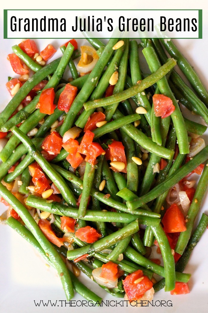
[[[54,264],[54,267],[56,268],[64,287],[66,298],[67,300],[70,300],[74,296],[74,291],[70,275],[64,261],[61,259],[60,255],[56,252],[48,239],[46,239],[46,237],[43,235],[41,229],[38,227],[31,214],[22,205],[22,203],[17,200],[17,198],[11,192],[9,192],[5,186],[2,185],[2,183],[0,183],[0,194],[22,218],[22,221],[30,229],[31,233],[37,239],[45,254],[48,255],[49,259]]]

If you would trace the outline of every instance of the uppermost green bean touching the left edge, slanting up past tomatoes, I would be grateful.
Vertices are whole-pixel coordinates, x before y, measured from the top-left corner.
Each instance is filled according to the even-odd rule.
[[[32,79],[27,80],[24,83],[24,85],[22,85],[22,87],[17,91],[16,95],[14,95],[13,98],[9,101],[6,108],[2,111],[0,115],[1,131],[6,131],[6,129],[3,128],[2,126],[4,125],[4,123],[6,123],[8,118],[12,115],[12,113],[15,111],[15,109],[18,107],[21,101],[28,95],[31,89],[35,87],[45,77],[53,73],[56,70],[59,62],[60,58],[44,66],[42,69],[40,69],[40,71],[38,71],[38,73],[35,73],[32,76]]]

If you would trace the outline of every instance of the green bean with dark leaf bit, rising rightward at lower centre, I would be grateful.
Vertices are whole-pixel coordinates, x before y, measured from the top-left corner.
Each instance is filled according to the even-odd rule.
[[[127,226],[117,230],[116,232],[99,239],[93,244],[88,244],[85,247],[70,250],[67,252],[67,258],[69,260],[74,260],[84,254],[89,254],[89,256],[94,255],[96,252],[102,251],[113,244],[117,243],[119,240],[124,239],[133,233],[138,231],[138,221],[134,221]]]

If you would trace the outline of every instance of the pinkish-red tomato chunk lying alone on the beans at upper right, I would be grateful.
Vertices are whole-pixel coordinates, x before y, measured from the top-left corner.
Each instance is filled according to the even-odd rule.
[[[172,100],[164,95],[155,94],[152,97],[152,101],[154,105],[155,116],[161,116],[161,118],[165,118],[171,115],[175,110],[175,106],[173,105]]]

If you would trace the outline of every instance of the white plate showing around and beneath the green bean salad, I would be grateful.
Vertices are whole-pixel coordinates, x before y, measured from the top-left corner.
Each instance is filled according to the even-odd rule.
[[[0,76],[0,94],[1,94],[1,107],[0,110],[10,100],[5,84],[7,77],[17,77],[11,69],[9,62],[7,61],[7,54],[12,53],[12,45],[18,44],[20,40],[2,40],[0,60],[1,60],[1,76]],[[63,44],[65,40],[59,41],[57,39],[42,39],[36,41],[39,45],[40,51],[47,44],[52,43],[56,49]],[[207,40],[193,40],[183,39],[175,40],[177,42],[180,51],[184,53],[187,59],[196,69],[197,73],[207,86],[208,73],[207,73],[207,58],[206,50],[208,48]],[[82,44],[79,40],[79,45]],[[60,52],[56,53],[56,56],[60,55]],[[195,118],[195,117],[194,117]],[[207,134],[204,138],[207,142]],[[201,212],[206,211],[208,205],[208,198],[206,203],[203,204]],[[0,203],[0,214],[6,209],[6,207]],[[200,214],[201,215],[201,214]],[[116,305],[115,302],[109,302],[108,307],[90,307],[82,306],[79,300],[84,300],[80,295],[75,295],[74,302],[65,304],[65,294],[62,289],[62,285],[56,272],[53,269],[46,266],[46,262],[41,256],[30,246],[24,239],[22,239],[15,231],[8,226],[0,226],[0,313],[16,312],[16,313],[28,313],[28,312],[106,312],[106,309],[113,312],[114,306],[118,307],[122,312],[133,312],[136,310],[130,306]],[[191,273],[191,279],[189,281],[190,294],[187,295],[170,295],[169,292],[161,290],[154,296],[154,307],[149,305],[148,308],[139,310],[145,310],[146,312],[179,312],[184,313],[196,312],[200,309],[201,312],[207,312],[207,232],[201,238],[199,244],[194,249],[191,255],[188,266],[185,272]],[[106,300],[122,300],[119,298],[113,298],[107,293],[103,292],[96,284],[89,279],[81,277],[82,281],[85,281],[86,285],[96,292],[98,295],[103,296]],[[43,300],[44,303],[49,303],[47,306],[43,306],[41,302],[40,307],[36,307],[37,303]],[[51,303],[56,303],[55,306],[51,306]],[[34,302],[35,301],[35,302]],[[61,302],[62,301],[62,302]],[[78,302],[76,302],[78,301]],[[167,302],[169,301],[169,302]],[[75,306],[76,305],[76,306]],[[165,306],[166,305],[166,306]],[[169,305],[169,306],[168,306]],[[172,305],[172,306],[170,306]],[[72,306],[72,307],[71,307]]]

